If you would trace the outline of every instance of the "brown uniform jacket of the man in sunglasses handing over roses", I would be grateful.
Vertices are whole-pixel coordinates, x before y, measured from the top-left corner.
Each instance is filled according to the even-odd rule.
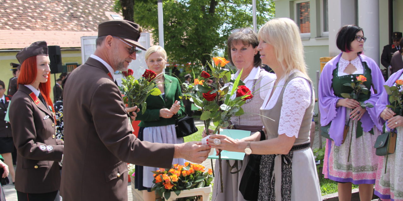
[[[131,134],[122,96],[108,69],[89,57],[63,90],[64,201],[127,200],[127,164],[170,168],[173,144],[141,142]]]

